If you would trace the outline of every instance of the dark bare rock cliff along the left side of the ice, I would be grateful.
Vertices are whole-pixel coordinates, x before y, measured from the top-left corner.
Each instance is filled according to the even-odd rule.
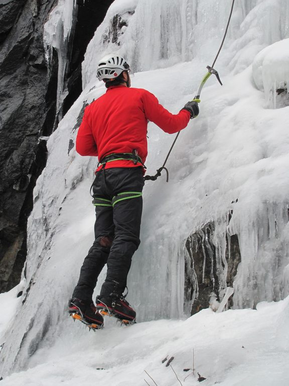
[[[86,46],[112,1],[78,0],[63,112],[81,92]],[[0,292],[19,282],[33,188],[46,164],[56,117],[57,54],[44,59],[43,26],[57,0],[0,2]],[[49,75],[48,75],[49,74]]]

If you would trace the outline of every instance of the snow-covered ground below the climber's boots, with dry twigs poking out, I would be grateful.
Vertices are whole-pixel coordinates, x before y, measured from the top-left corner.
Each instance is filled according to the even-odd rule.
[[[1,309],[4,302],[1,295]],[[259,303],[257,310],[208,309],[186,320],[130,327],[107,319],[106,328],[95,333],[67,321],[55,344],[37,352],[30,369],[8,376],[1,385],[193,386],[199,375],[206,378],[204,386],[289,384],[289,297]]]

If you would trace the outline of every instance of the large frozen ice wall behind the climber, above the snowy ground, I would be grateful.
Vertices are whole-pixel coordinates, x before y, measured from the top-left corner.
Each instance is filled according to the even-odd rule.
[[[47,167],[37,182],[29,219],[23,306],[1,337],[6,342],[2,374],[33,364],[35,351],[53,344],[70,323],[66,302],[93,241],[89,187],[97,163],[77,155],[73,144],[83,104],[105,92],[95,80],[98,58],[111,50],[127,56],[134,70],[141,70],[132,78],[133,86],[154,92],[176,113],[192,98],[216,54],[229,6],[227,0],[113,3],[86,54],[86,87],[48,141]],[[111,20],[116,14],[125,23],[114,19],[121,26],[115,32]],[[279,299],[289,291],[288,108],[264,109],[264,93],[252,81],[255,55],[288,38],[287,15],[282,0],[236,2],[217,62],[224,86],[209,79],[201,114],[181,133],[168,162],[169,184],[165,178],[146,184],[142,241],[128,278],[128,300],[138,321],[183,316],[186,240],[214,221],[222,260],[229,211],[228,231],[238,235],[242,254],[234,305],[251,307],[255,300]],[[148,135],[147,166],[153,173],[173,137],[152,123]],[[264,284],[256,287],[260,281]]]

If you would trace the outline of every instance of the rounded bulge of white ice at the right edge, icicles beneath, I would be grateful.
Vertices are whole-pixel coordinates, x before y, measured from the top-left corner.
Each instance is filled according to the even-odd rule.
[[[268,108],[289,105],[289,39],[271,44],[256,55],[253,78],[257,88],[265,92]]]

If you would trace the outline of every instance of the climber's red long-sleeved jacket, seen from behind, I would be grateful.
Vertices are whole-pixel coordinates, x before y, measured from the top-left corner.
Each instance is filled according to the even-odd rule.
[[[109,87],[85,109],[76,137],[76,151],[101,160],[111,153],[131,153],[135,149],[145,163],[148,121],[173,134],[188,125],[190,113],[181,110],[179,114],[171,114],[155,95],[142,88]],[[141,164],[119,160],[108,162],[105,168],[133,166]]]

